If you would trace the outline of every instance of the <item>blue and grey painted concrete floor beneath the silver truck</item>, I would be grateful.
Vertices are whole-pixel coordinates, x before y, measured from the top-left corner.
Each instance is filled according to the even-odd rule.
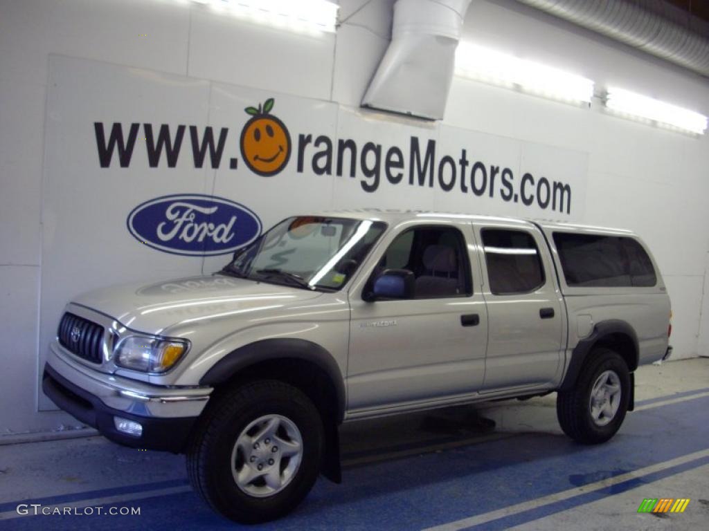
[[[641,367],[636,382],[636,411],[593,447],[562,435],[554,394],[351,423],[342,428],[343,484],[321,479],[294,514],[251,528],[705,528],[709,359]],[[644,498],[691,502],[681,514],[639,514]],[[24,516],[20,503],[140,515]],[[0,520],[3,530],[238,527],[191,492],[183,457],[100,437],[1,445]]]

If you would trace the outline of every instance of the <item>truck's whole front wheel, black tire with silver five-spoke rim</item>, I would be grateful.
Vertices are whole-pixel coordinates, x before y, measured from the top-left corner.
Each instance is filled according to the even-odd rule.
[[[193,489],[239,523],[274,520],[311,490],[323,426],[301,391],[283,382],[242,385],[216,399],[187,452]]]

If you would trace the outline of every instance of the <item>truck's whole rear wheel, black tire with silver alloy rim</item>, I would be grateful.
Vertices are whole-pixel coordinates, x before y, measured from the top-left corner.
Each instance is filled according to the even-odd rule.
[[[609,348],[588,355],[574,389],[557,394],[562,430],[584,444],[605,442],[625,419],[630,402],[630,373],[625,360]]]

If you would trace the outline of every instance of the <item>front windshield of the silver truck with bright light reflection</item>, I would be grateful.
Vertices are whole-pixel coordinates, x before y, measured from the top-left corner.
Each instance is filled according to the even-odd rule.
[[[221,273],[309,290],[339,290],[386,224],[339,217],[289,217],[235,253]]]

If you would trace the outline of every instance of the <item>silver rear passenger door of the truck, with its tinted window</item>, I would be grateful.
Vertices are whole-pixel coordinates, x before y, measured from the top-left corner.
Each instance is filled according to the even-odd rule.
[[[476,224],[489,319],[484,389],[553,387],[566,314],[544,236],[532,224]]]

